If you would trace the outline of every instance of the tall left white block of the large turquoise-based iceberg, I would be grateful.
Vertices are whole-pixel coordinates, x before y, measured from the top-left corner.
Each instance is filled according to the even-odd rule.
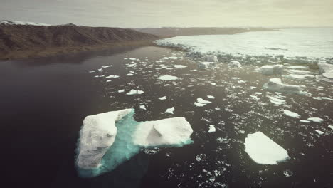
[[[115,123],[131,113],[131,109],[89,115],[83,120],[78,142],[76,164],[82,169],[93,169],[100,166],[102,157],[115,141],[117,127]]]

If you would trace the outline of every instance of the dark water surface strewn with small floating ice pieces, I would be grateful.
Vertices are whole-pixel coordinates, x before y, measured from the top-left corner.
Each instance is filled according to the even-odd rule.
[[[2,178],[10,187],[332,187],[333,132],[327,125],[333,125],[333,103],[312,98],[333,98],[332,83],[286,80],[305,85],[312,96],[282,93],[286,104],[276,106],[268,96],[277,94],[262,89],[272,77],[253,73],[252,66],[228,69],[221,64],[193,71],[196,64],[187,58],[156,62],[164,56],[184,56],[181,52],[152,46],[128,50],[0,62]],[[126,57],[140,61],[130,68]],[[173,64],[187,67],[167,69]],[[108,65],[112,67],[97,71]],[[129,71],[137,74],[126,76]],[[106,82],[95,75],[120,78]],[[161,81],[159,75],[181,79]],[[122,89],[144,93],[117,92]],[[255,92],[262,93],[258,100],[250,97]],[[162,96],[167,100],[158,99]],[[213,103],[196,107],[196,98]],[[164,113],[171,107],[174,115]],[[135,108],[137,121],[186,117],[194,143],[144,150],[100,177],[78,177],[75,147],[83,118],[123,108]],[[302,120],[322,117],[324,122],[302,124],[282,115],[282,109],[300,114]],[[208,134],[209,125],[215,125],[216,132]],[[325,133],[319,136],[314,130]],[[290,160],[255,164],[243,143],[256,131],[284,147]]]

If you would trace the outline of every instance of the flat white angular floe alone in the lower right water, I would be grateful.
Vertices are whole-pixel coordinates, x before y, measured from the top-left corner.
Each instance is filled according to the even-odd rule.
[[[289,158],[287,150],[263,132],[248,134],[245,138],[245,152],[258,164],[277,164]]]

